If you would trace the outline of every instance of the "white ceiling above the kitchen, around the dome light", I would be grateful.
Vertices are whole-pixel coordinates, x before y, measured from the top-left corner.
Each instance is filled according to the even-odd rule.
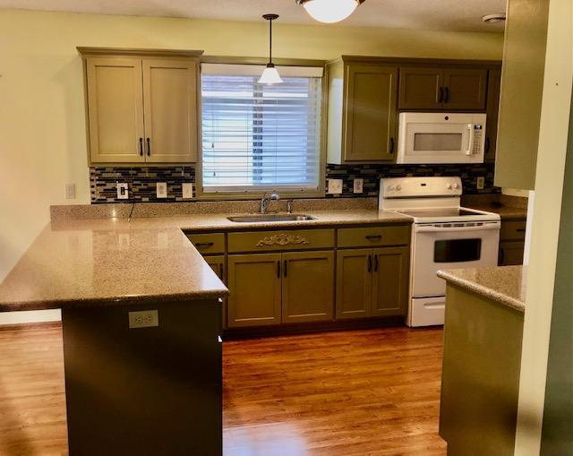
[[[485,24],[485,14],[504,13],[506,0],[366,0],[339,25],[421,30],[503,31]],[[73,13],[258,21],[263,13],[280,22],[312,24],[295,0],[0,0],[0,8]]]

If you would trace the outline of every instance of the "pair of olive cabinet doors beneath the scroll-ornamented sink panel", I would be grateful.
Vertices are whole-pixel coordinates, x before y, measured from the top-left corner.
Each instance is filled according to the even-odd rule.
[[[334,253],[228,256],[228,326],[332,320]]]

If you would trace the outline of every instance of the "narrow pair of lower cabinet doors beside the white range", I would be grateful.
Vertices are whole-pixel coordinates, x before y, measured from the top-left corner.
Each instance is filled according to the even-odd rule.
[[[409,248],[337,252],[337,319],[406,313]]]

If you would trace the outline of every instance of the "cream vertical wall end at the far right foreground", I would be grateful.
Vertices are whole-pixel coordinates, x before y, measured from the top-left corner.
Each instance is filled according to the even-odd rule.
[[[551,0],[535,173],[535,208],[526,283],[516,456],[540,454],[550,336],[556,339],[563,337],[563,334],[552,335],[551,331],[562,203],[568,204],[571,200],[569,194],[563,195],[572,108],[571,18],[573,5],[569,0]],[[567,248],[567,244],[564,247]],[[567,261],[566,274],[570,280],[570,258]],[[563,273],[561,270],[561,275]],[[559,331],[559,326],[556,326],[556,330]]]

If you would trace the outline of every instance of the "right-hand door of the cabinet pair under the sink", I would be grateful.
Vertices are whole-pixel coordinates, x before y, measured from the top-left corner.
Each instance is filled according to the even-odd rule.
[[[283,254],[282,323],[332,320],[334,252]]]

